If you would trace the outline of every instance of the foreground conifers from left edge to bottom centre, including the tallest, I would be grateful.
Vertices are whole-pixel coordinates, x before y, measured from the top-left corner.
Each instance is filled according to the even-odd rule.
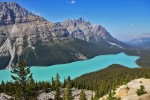
[[[18,66],[13,67],[12,71],[13,82],[3,82],[0,84],[0,93],[5,93],[12,96],[10,100],[37,100],[40,93],[48,93],[55,91],[54,100],[73,100],[72,87],[73,83],[70,77],[60,82],[59,74],[51,82],[35,82],[30,67],[25,67],[25,62],[20,61]],[[64,88],[61,95],[61,88]],[[85,92],[82,90],[80,100],[86,100]]]

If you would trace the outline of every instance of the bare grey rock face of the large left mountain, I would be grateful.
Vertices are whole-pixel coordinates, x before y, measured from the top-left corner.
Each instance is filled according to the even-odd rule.
[[[68,37],[62,25],[49,23],[15,2],[0,2],[0,56],[11,56],[8,68],[23,48]]]

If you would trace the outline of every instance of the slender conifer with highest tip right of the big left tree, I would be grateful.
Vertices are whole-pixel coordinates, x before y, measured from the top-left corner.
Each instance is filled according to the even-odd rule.
[[[60,83],[60,77],[57,73],[56,75],[56,80],[55,80],[55,88],[56,88],[56,93],[55,93],[55,100],[61,100],[61,93],[60,93],[60,87],[61,87],[61,83]]]

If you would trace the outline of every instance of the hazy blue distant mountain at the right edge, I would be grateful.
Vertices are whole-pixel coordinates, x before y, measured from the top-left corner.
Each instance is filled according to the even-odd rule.
[[[127,44],[137,48],[150,48],[150,34],[142,34],[128,41]]]

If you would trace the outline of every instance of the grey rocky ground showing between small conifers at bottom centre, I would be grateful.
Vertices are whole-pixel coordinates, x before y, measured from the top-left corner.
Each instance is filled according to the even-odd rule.
[[[63,95],[63,91],[64,89],[62,89],[61,96]],[[79,100],[81,91],[82,91],[81,89],[72,88],[73,100]],[[92,95],[93,96],[95,95],[95,93],[90,90],[85,90],[85,94],[86,94],[87,100],[91,100]],[[54,95],[55,95],[54,91],[49,92],[49,93],[42,93],[37,97],[37,99],[38,100],[54,100]]]

